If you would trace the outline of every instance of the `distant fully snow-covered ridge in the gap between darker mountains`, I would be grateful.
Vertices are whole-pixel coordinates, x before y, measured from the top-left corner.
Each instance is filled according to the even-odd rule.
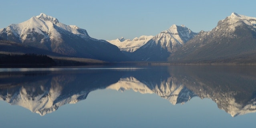
[[[119,47],[121,51],[134,52],[143,46],[147,41],[152,39],[153,35],[142,35],[139,38],[135,37],[133,40],[125,39],[121,37],[120,39],[107,40],[109,43]]]

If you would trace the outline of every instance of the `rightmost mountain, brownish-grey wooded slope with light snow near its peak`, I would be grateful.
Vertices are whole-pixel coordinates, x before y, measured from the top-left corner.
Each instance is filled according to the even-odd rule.
[[[179,62],[255,62],[256,18],[232,13],[210,32],[201,31],[169,61]]]

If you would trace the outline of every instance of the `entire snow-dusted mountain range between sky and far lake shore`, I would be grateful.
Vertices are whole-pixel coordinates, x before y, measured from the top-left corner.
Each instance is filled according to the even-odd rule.
[[[38,53],[102,61],[256,63],[256,18],[232,13],[209,32],[172,25],[155,36],[98,40],[40,14],[0,29],[0,53]]]

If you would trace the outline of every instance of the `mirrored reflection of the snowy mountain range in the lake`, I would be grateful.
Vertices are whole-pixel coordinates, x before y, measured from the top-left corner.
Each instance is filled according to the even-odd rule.
[[[231,116],[256,112],[256,67],[169,66],[0,73],[0,99],[41,116],[97,89],[155,93],[171,104],[210,98]]]

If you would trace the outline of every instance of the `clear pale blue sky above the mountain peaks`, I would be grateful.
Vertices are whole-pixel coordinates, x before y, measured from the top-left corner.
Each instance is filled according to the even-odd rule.
[[[256,17],[256,0],[2,0],[0,28],[44,13],[96,39],[156,35],[171,25],[210,31],[232,12]]]

